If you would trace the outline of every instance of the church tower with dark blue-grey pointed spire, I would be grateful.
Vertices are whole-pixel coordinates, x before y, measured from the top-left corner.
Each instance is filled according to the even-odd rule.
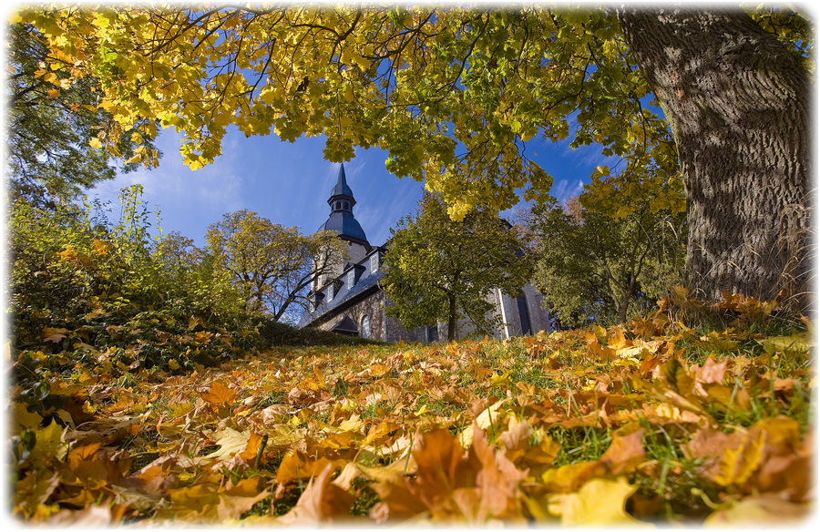
[[[344,175],[344,164],[339,168],[339,178],[336,185],[331,189],[327,204],[330,205],[331,213],[319,230],[335,231],[339,238],[346,240],[348,243],[349,261],[354,263],[362,261],[372,247],[370,242],[367,241],[367,236],[364,234],[362,226],[359,225],[359,221],[354,218],[353,208],[356,200],[353,190],[347,184],[347,177]],[[330,275],[323,275],[320,279],[314,281],[313,290],[316,290],[318,286],[322,286],[328,278],[341,274],[344,268],[345,264],[338,264],[333,268]]]

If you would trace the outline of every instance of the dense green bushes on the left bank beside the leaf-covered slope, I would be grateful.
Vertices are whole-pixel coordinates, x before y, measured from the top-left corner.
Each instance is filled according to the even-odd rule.
[[[140,193],[139,186],[122,192],[116,224],[101,205],[15,202],[8,309],[15,349],[50,355],[31,360],[51,370],[97,360],[128,373],[193,369],[258,340],[241,294],[208,256],[185,251],[190,244],[179,235],[151,238]]]

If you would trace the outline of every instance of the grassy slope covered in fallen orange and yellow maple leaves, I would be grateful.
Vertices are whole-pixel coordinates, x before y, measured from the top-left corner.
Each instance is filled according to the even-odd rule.
[[[723,325],[687,326],[661,302],[608,329],[276,348],[192,372],[118,372],[97,353],[38,373],[46,390],[13,386],[12,513],[46,526],[800,523],[814,508],[808,323],[737,298],[709,310]],[[21,372],[46,355],[13,356]]]

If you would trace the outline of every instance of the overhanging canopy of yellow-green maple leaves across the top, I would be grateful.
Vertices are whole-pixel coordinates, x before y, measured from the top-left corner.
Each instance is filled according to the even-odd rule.
[[[458,219],[478,203],[510,207],[517,189],[548,191],[552,179],[523,149],[538,133],[572,135],[573,148],[599,142],[630,167],[676,165],[668,127],[643,104],[650,89],[603,9],[282,5],[171,16],[118,6],[19,16],[49,39],[56,68],[99,77],[101,106],[119,123],[183,131],[194,169],[220,154],[231,125],[285,140],[324,134],[331,160],[355,146],[388,149],[388,169],[424,178]]]

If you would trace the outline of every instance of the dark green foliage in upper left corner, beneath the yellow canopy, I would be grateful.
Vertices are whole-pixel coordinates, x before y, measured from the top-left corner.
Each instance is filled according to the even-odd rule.
[[[138,168],[139,161],[156,166],[159,151],[139,133],[155,129],[148,120],[110,138],[110,152],[88,149],[88,142],[114,122],[97,107],[102,97],[97,80],[71,81],[62,69],[49,68],[44,37],[33,26],[10,25],[7,36],[6,149],[12,194],[45,205],[73,199],[118,171]]]

